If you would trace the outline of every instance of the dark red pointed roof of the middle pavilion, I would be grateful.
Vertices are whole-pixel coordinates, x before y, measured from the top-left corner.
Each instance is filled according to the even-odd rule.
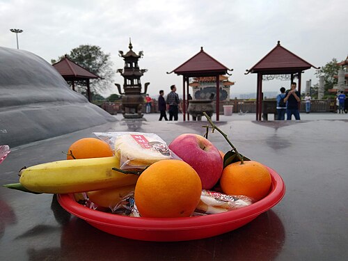
[[[203,47],[200,48],[200,52],[182,63],[178,68],[173,70],[176,74],[226,74],[229,69],[216,61],[212,56],[209,56],[203,51]]]

